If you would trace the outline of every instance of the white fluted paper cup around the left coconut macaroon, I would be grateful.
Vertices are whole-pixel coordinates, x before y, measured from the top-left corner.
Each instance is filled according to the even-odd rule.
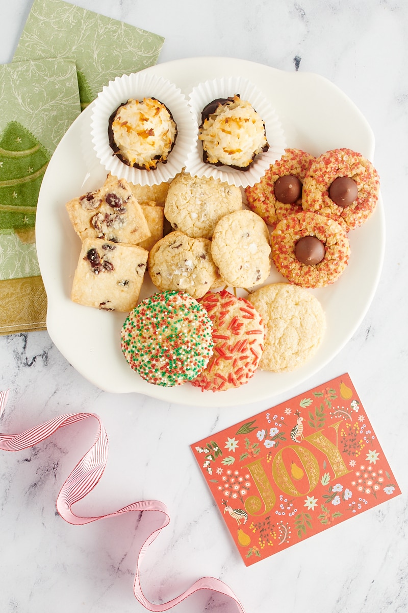
[[[154,97],[166,105],[177,125],[177,138],[168,160],[158,162],[155,170],[140,170],[127,166],[109,145],[108,121],[119,105],[131,98]],[[92,143],[101,164],[115,177],[138,185],[159,185],[174,178],[185,166],[192,147],[195,147],[195,121],[190,105],[181,90],[173,83],[149,72],[134,72],[109,81],[94,102],[91,117]]]

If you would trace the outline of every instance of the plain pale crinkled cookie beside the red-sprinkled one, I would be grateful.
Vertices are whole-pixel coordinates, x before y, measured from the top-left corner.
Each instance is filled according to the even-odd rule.
[[[259,368],[292,371],[316,353],[324,338],[326,319],[311,292],[289,283],[272,283],[249,294],[248,300],[265,326]]]

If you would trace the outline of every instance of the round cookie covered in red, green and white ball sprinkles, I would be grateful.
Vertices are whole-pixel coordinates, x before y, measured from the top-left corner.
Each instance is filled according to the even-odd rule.
[[[212,356],[212,322],[189,294],[157,292],[128,314],[121,346],[130,367],[149,383],[181,385]]]

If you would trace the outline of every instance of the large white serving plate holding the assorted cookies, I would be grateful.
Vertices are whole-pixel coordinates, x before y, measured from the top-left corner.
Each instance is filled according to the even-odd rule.
[[[348,147],[373,161],[374,136],[355,105],[336,86],[315,74],[282,72],[231,58],[189,58],[148,68],[188,95],[198,82],[225,75],[246,77],[269,97],[280,116],[288,147],[318,156]],[[146,383],[127,365],[121,352],[124,313],[82,307],[70,300],[80,239],[70,225],[65,203],[97,188],[106,171],[91,142],[92,105],[72,124],[51,158],[37,207],[36,243],[48,297],[47,329],[55,345],[86,379],[108,392],[139,392],[190,406],[237,406],[272,398],[305,381],[343,348],[360,325],[376,291],[384,258],[382,201],[364,226],[350,232],[351,259],[335,284],[313,290],[327,316],[321,348],[291,373],[258,371],[239,389],[214,394],[190,384],[160,387]],[[281,281],[273,269],[268,282]],[[154,291],[147,283],[146,293]]]

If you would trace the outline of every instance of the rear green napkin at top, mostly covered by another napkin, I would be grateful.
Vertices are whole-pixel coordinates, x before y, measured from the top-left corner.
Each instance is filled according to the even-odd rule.
[[[14,60],[76,61],[82,108],[109,80],[157,63],[164,38],[62,0],[34,0]]]

